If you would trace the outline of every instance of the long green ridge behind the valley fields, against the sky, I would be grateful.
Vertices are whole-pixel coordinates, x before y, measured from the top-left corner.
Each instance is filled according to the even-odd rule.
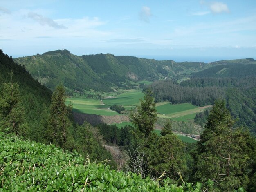
[[[199,62],[176,63],[112,54],[76,56],[67,50],[20,57],[15,61],[25,65],[29,73],[49,89],[62,82],[70,92],[90,89],[110,92],[113,87],[130,88],[131,82],[141,80],[179,80],[208,67]]]

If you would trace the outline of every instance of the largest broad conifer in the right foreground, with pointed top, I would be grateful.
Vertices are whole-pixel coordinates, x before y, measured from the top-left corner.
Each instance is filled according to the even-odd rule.
[[[249,160],[248,154],[243,152],[245,138],[236,134],[233,123],[225,102],[217,100],[200,136],[202,141],[199,142],[199,155],[195,161],[195,176],[202,182],[211,179],[220,191],[246,187],[248,183],[244,172]]]

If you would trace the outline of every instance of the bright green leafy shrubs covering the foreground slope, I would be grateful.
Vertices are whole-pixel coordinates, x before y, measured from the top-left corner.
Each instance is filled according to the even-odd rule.
[[[0,133],[0,191],[171,191],[198,192],[202,184],[169,185],[170,179],[111,170],[103,163],[90,163],[77,153],[63,152],[54,145],[23,141]],[[208,181],[208,188],[212,182]]]

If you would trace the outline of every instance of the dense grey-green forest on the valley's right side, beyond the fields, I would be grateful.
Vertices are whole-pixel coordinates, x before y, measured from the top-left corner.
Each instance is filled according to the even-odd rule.
[[[149,87],[155,95],[156,102],[168,100],[171,104],[192,103],[204,106],[213,105],[214,100],[223,98],[232,116],[238,119],[234,126],[249,127],[251,132],[256,134],[255,83],[255,77],[203,77],[191,78],[180,84],[171,80],[157,81]],[[199,116],[197,121],[202,121],[199,120]]]

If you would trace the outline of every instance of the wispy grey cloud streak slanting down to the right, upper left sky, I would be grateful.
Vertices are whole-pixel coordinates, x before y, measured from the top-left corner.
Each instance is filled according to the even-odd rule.
[[[43,17],[37,13],[30,12],[27,14],[27,17],[37,21],[40,25],[43,25],[43,26],[48,25],[55,29],[67,29],[67,27],[65,27],[64,25],[59,25],[57,22],[55,22],[51,18]]]

